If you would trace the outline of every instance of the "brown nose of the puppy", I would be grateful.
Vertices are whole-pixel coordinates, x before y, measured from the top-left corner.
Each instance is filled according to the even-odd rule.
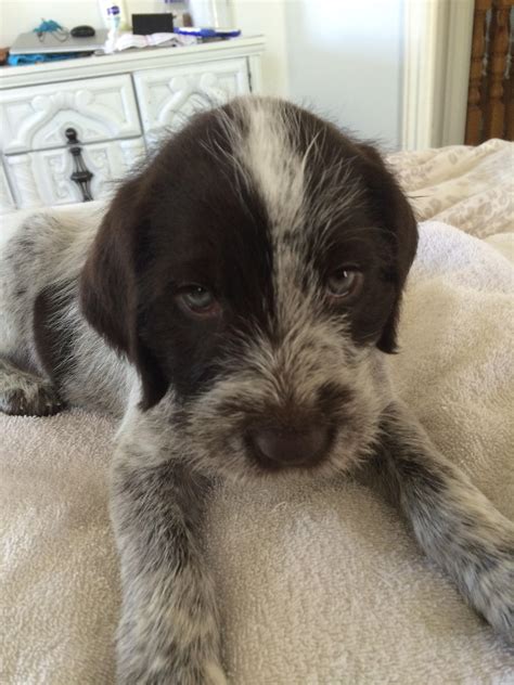
[[[326,426],[306,430],[257,428],[249,438],[259,462],[271,468],[313,463],[325,452],[330,440]]]

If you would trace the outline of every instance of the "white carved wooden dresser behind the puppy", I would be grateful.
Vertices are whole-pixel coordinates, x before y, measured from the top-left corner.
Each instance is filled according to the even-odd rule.
[[[0,212],[100,198],[166,130],[260,90],[264,39],[0,67]]]

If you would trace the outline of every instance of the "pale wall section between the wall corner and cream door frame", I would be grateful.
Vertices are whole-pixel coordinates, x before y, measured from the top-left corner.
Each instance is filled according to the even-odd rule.
[[[288,91],[388,148],[400,142],[401,0],[286,2]]]

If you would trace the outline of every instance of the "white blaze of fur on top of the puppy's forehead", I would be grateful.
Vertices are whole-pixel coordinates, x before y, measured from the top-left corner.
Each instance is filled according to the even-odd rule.
[[[246,130],[235,154],[265,201],[273,232],[291,231],[304,215],[307,156],[294,147],[296,122],[272,100],[241,101],[241,108]]]

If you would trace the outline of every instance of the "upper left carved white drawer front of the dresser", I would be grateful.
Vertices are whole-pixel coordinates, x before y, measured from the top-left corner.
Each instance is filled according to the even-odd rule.
[[[0,92],[4,154],[61,147],[74,128],[81,143],[141,134],[130,76],[14,88]]]

